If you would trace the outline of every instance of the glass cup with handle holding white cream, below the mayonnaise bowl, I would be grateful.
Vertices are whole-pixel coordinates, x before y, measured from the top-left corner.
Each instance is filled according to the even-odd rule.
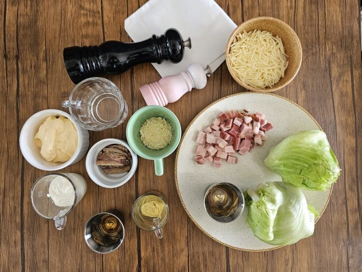
[[[55,182],[55,184],[52,184]],[[49,173],[40,177],[30,193],[33,209],[46,219],[53,219],[61,230],[66,215],[80,202],[87,191],[85,179],[75,173]]]

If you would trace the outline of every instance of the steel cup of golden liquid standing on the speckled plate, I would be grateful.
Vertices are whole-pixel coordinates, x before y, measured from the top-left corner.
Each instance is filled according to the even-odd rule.
[[[205,193],[204,206],[215,221],[229,223],[236,220],[244,209],[244,197],[234,184],[220,182],[211,185]]]

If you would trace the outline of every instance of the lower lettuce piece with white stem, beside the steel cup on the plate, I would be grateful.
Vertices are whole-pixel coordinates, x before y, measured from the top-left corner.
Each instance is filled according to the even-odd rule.
[[[271,245],[290,245],[314,232],[310,209],[301,190],[283,182],[267,182],[248,190],[246,222],[256,237]]]

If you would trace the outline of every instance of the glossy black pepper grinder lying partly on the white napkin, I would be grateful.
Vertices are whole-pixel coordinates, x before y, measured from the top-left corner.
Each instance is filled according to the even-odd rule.
[[[160,37],[152,35],[138,43],[107,41],[99,46],[67,47],[63,58],[70,79],[77,84],[103,73],[119,74],[141,63],[179,63],[185,47],[191,48],[190,38],[183,41],[179,31],[170,28]]]

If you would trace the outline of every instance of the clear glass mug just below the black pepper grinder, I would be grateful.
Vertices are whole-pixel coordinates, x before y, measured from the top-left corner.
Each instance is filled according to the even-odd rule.
[[[102,131],[121,125],[128,107],[120,89],[103,77],[90,77],[79,82],[61,105],[84,129]]]

